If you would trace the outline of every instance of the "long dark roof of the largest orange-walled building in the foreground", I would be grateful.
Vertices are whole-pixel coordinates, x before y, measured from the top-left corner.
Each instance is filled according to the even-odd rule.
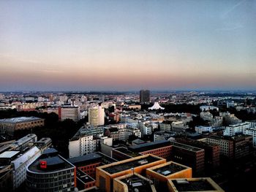
[[[134,161],[128,161],[124,164],[117,164],[117,165],[113,165],[113,166],[108,166],[106,168],[103,168],[103,170],[105,170],[105,172],[108,172],[110,174],[114,174],[114,173],[125,171],[127,169],[135,168],[137,166],[150,164],[154,161],[159,161],[159,158],[155,158],[153,156],[147,156],[146,158],[139,158],[139,159],[136,159]]]

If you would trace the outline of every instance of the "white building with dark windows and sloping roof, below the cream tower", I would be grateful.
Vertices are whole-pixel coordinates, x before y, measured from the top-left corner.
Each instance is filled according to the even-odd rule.
[[[69,140],[69,158],[94,153],[97,150],[97,141],[103,136],[103,131],[103,127],[81,127]]]

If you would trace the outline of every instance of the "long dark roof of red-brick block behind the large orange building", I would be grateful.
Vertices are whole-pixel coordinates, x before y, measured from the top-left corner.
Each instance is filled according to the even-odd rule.
[[[148,142],[140,145],[129,146],[128,150],[131,150],[132,152],[140,153],[142,151],[153,150],[159,147],[167,147],[167,146],[170,146],[170,141],[162,140],[157,142]]]

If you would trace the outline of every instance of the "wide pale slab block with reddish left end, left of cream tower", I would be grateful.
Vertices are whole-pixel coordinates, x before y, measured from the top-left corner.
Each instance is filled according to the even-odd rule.
[[[80,120],[80,107],[71,105],[62,105],[59,107],[59,120]]]

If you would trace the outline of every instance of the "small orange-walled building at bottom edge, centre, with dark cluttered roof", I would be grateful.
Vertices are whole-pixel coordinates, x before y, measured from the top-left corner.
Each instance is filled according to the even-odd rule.
[[[113,180],[113,191],[129,192],[157,192],[153,181],[140,174],[126,174]]]

